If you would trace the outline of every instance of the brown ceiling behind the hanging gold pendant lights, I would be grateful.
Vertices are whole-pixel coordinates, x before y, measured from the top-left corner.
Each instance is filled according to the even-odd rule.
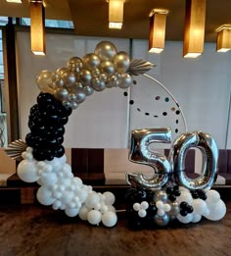
[[[126,0],[122,29],[108,27],[107,0],[45,0],[46,19],[73,21],[77,35],[148,39],[149,13],[167,9],[166,40],[183,40],[185,0]],[[208,0],[206,41],[215,41],[215,29],[231,24],[231,1]],[[0,16],[29,17],[29,0],[23,4],[1,0]]]

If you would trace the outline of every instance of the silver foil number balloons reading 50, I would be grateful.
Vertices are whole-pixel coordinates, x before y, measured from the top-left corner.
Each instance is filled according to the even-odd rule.
[[[127,182],[135,187],[161,189],[174,173],[176,182],[188,189],[210,188],[217,177],[218,149],[214,139],[202,131],[184,133],[173,143],[168,161],[165,156],[153,152],[150,144],[170,143],[170,136],[169,128],[132,130],[129,160],[153,167],[155,175],[152,179],[146,179],[142,174],[127,174]],[[203,156],[203,171],[197,179],[189,179],[185,173],[185,157],[192,147],[199,148]]]

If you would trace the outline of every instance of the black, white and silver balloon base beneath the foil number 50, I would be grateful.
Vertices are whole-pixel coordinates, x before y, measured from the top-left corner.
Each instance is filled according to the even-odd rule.
[[[131,187],[126,191],[125,201],[128,226],[133,230],[164,227],[173,220],[183,224],[198,223],[202,217],[218,221],[226,213],[224,202],[213,189],[188,190],[166,185],[154,191]]]

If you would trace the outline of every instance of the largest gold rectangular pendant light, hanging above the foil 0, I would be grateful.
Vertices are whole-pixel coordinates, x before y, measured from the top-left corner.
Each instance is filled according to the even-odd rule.
[[[206,0],[186,0],[184,58],[197,58],[204,51],[206,2]]]

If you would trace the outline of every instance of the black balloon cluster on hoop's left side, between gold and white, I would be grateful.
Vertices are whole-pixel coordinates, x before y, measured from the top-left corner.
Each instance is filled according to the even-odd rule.
[[[64,126],[69,121],[71,109],[64,107],[50,93],[40,93],[37,104],[30,109],[26,144],[33,148],[33,157],[38,161],[62,157],[65,149]]]

